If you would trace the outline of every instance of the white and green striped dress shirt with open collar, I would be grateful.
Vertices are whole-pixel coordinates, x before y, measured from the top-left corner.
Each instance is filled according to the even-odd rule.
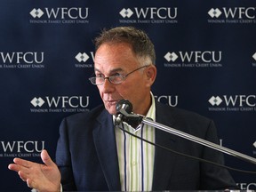
[[[156,105],[151,93],[152,104],[147,117],[156,120]],[[147,124],[140,124],[138,129],[129,124],[121,126],[128,132],[155,143],[155,128]],[[155,147],[147,142],[115,127],[116,148],[120,172],[122,191],[150,191],[152,190]]]

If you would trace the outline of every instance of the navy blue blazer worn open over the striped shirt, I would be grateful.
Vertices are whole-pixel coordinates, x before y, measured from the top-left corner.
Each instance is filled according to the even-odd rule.
[[[218,143],[212,120],[156,102],[156,122]],[[224,164],[220,152],[156,129],[156,143],[180,153]],[[236,188],[226,169],[156,148],[152,190]],[[56,164],[63,190],[120,191],[112,116],[100,106],[68,116],[60,124]]]

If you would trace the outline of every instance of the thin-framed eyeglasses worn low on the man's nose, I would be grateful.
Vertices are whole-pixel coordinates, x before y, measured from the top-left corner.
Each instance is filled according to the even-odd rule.
[[[149,65],[145,65],[145,66],[142,66],[140,68],[146,68],[148,66]],[[136,68],[135,70],[131,71],[130,73],[126,74],[125,76],[123,76],[121,74],[116,74],[116,75],[108,76],[108,77],[105,77],[105,76],[92,76],[92,77],[89,78],[89,80],[91,81],[92,84],[96,84],[96,85],[104,84],[105,79],[108,79],[108,81],[111,84],[121,84],[122,82],[124,82],[124,80],[125,80],[125,78],[127,76],[129,76],[130,74],[132,74],[133,72],[135,72],[137,70],[140,70],[140,68]]]

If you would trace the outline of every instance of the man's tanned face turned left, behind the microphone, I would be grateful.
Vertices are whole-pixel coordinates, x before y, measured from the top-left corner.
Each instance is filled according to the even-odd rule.
[[[139,60],[135,57],[129,44],[101,44],[95,53],[94,70],[96,76],[108,77],[116,74],[125,76],[140,67]],[[153,82],[148,81],[148,68],[152,67],[135,71],[127,76],[121,84],[112,84],[108,79],[105,79],[104,84],[97,85],[100,97],[110,114],[116,114],[116,102],[118,100],[126,99],[132,102],[134,113],[145,115],[151,103],[150,86],[155,80],[154,78]]]

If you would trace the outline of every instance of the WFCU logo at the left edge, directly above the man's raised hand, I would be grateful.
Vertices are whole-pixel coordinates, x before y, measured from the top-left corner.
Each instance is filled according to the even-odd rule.
[[[0,141],[0,157],[40,156],[44,149],[44,140]]]

